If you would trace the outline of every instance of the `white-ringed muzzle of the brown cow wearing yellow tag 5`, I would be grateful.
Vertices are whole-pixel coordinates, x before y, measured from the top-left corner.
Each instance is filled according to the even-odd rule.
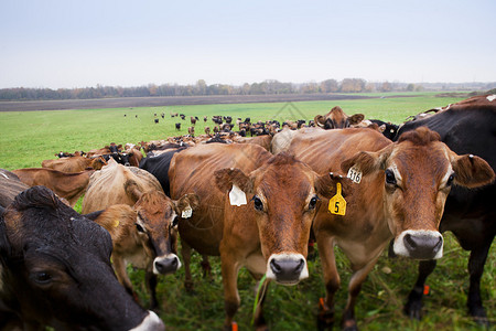
[[[272,254],[267,263],[267,278],[281,285],[296,285],[309,277],[306,259],[301,254]]]

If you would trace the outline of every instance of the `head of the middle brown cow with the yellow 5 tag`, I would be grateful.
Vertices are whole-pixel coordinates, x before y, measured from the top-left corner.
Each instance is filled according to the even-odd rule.
[[[283,285],[306,278],[308,243],[319,196],[331,197],[336,179],[317,175],[285,152],[249,174],[223,169],[215,172],[215,178],[220,191],[239,189],[247,195],[247,217],[257,223],[267,277]]]

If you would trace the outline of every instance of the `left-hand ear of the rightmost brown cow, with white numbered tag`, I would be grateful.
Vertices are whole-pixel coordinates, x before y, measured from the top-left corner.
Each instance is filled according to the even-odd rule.
[[[341,163],[341,169],[347,173],[349,168],[355,167],[357,171],[362,172],[362,175],[367,175],[379,169],[385,169],[386,161],[391,152],[392,143],[377,152],[360,151],[344,160]]]

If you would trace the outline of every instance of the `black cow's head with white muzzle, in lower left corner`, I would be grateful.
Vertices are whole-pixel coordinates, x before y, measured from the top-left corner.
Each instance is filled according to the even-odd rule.
[[[123,290],[107,231],[44,186],[0,216],[0,314],[26,330],[165,330]],[[22,324],[21,324],[22,323]]]

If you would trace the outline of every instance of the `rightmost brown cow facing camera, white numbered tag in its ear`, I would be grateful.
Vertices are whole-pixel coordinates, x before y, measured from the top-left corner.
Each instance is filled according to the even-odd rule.
[[[356,329],[359,289],[389,241],[393,239],[397,255],[442,257],[439,223],[451,185],[475,188],[494,179],[486,161],[457,156],[427,128],[408,132],[396,143],[371,129],[301,134],[290,151],[317,173],[352,169],[351,177],[360,178],[346,197],[344,216],[322,209],[314,221],[327,293],[320,313],[322,327],[334,320],[334,295],[339,288],[334,245],[343,249],[354,270],[343,328]]]

